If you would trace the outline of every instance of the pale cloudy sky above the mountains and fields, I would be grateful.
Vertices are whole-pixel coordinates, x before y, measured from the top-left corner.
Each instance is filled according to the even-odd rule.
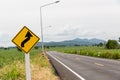
[[[27,26],[41,38],[40,6],[55,0],[0,0],[0,46]],[[44,41],[120,37],[120,0],[60,0],[42,7]],[[41,41],[41,40],[40,40]]]

